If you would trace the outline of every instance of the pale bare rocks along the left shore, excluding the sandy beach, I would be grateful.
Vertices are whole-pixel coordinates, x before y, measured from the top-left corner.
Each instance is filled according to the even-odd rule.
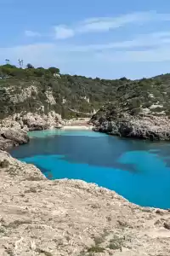
[[[0,120],[0,150],[28,143],[27,131],[61,128],[64,121],[54,111],[48,114],[16,113]]]

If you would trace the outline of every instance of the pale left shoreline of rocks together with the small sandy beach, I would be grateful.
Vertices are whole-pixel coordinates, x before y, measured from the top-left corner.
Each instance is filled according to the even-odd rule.
[[[61,119],[54,111],[48,114],[18,113],[0,120],[0,150],[8,150],[29,142],[28,132],[52,130],[92,131],[89,119]]]

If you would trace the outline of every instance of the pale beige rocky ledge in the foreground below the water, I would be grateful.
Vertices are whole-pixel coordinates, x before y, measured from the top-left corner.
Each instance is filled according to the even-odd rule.
[[[0,255],[168,256],[170,212],[108,189],[47,180],[0,151]]]

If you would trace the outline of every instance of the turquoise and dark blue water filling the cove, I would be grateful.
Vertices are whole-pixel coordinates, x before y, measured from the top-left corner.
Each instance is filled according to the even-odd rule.
[[[94,131],[33,131],[13,148],[51,179],[97,183],[140,206],[170,208],[170,143],[111,137]]]

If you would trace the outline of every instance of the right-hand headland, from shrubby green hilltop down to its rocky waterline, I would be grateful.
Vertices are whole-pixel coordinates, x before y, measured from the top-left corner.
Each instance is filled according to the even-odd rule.
[[[121,137],[170,140],[169,75],[116,87],[116,96],[91,119],[94,131]]]

